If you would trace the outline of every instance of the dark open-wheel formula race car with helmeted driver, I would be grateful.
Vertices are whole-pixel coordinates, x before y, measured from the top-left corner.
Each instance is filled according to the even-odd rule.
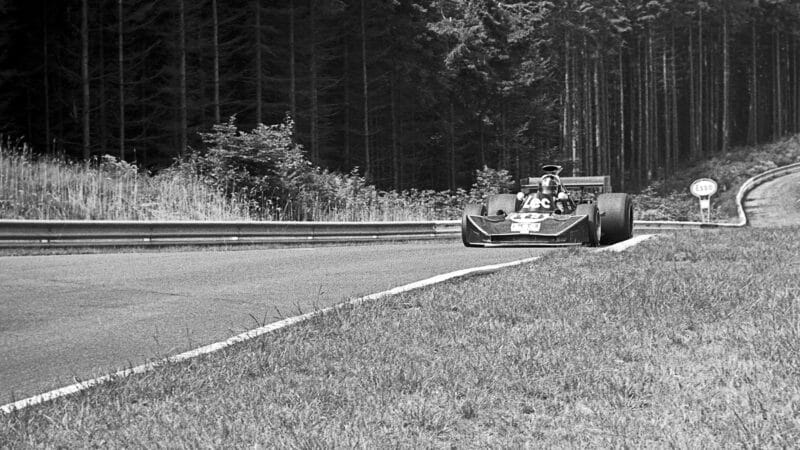
[[[560,178],[556,165],[542,171],[516,195],[496,194],[485,204],[468,204],[461,217],[464,245],[597,246],[631,237],[631,197],[610,193],[608,176]]]

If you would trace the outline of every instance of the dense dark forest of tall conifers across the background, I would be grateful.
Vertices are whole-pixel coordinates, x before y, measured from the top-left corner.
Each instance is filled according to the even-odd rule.
[[[453,189],[542,162],[635,189],[800,131],[797,0],[0,0],[0,133],[158,169],[235,117]]]

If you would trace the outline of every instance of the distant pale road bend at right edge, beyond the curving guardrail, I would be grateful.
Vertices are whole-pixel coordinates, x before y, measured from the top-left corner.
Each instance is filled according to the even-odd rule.
[[[742,206],[753,227],[800,225],[800,172],[756,186]]]

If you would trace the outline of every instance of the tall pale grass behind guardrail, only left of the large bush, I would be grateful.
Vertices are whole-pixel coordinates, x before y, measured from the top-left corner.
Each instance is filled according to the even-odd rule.
[[[197,177],[149,176],[105,157],[75,163],[0,146],[0,217],[59,220],[248,220],[249,205]]]

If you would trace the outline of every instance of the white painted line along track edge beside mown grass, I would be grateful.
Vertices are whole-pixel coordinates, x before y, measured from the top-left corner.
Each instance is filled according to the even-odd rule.
[[[625,249],[627,249],[629,247],[632,247],[632,246],[638,244],[639,242],[644,241],[645,239],[647,239],[647,238],[649,238],[651,236],[652,235],[636,236],[636,237],[633,237],[631,239],[628,239],[627,241],[621,242],[619,244],[615,244],[615,245],[612,245],[612,246],[609,246],[609,247],[602,248],[602,249],[600,249],[600,251],[603,251],[603,250],[617,251],[617,252],[618,251],[622,251],[622,250],[625,250]],[[627,244],[627,245],[622,245],[622,244]],[[253,329],[253,330],[250,330],[250,331],[246,331],[246,332],[244,332],[242,334],[238,334],[238,335],[233,336],[232,338],[226,339],[224,341],[215,342],[213,344],[209,344],[209,345],[206,345],[204,347],[196,348],[196,349],[190,350],[188,352],[184,352],[184,353],[181,353],[181,354],[178,354],[178,355],[175,355],[175,356],[170,356],[170,357],[168,357],[168,358],[166,358],[164,360],[161,360],[161,361],[149,362],[149,363],[142,364],[140,366],[136,366],[136,367],[133,367],[133,368],[130,368],[130,369],[120,370],[118,372],[115,372],[115,373],[112,373],[112,374],[108,374],[108,375],[104,375],[102,377],[98,377],[98,378],[93,378],[91,380],[82,381],[80,383],[75,383],[75,384],[72,384],[72,385],[69,385],[69,386],[65,386],[65,387],[62,387],[62,388],[59,388],[59,389],[55,389],[55,390],[52,390],[52,391],[49,391],[49,392],[45,392],[43,394],[35,395],[33,397],[29,397],[29,398],[26,398],[26,399],[23,399],[23,400],[18,400],[16,402],[0,406],[0,413],[8,414],[8,413],[10,413],[12,411],[17,411],[17,410],[26,408],[28,406],[38,405],[40,403],[48,402],[50,400],[55,400],[55,399],[57,399],[59,397],[64,397],[64,396],[69,395],[69,394],[74,394],[74,393],[77,393],[77,392],[81,392],[81,391],[84,391],[86,389],[89,389],[92,386],[97,386],[99,384],[107,383],[107,382],[112,381],[112,380],[116,380],[116,379],[119,379],[119,378],[124,378],[124,377],[130,376],[130,375],[134,375],[134,374],[138,374],[138,373],[149,372],[149,371],[155,369],[156,367],[163,366],[165,364],[186,361],[188,359],[191,359],[191,358],[194,358],[194,357],[197,357],[197,356],[200,356],[200,355],[207,355],[209,353],[214,353],[216,351],[219,351],[219,350],[222,350],[224,348],[230,347],[230,346],[232,346],[234,344],[238,344],[238,343],[244,342],[244,341],[249,341],[250,339],[254,339],[254,338],[258,337],[258,336],[261,336],[261,335],[264,335],[264,334],[267,334],[267,333],[271,333],[273,331],[279,330],[281,328],[288,327],[290,325],[294,325],[296,323],[304,322],[304,321],[306,321],[308,319],[311,319],[312,317],[316,317],[316,316],[319,316],[319,315],[334,311],[336,309],[340,309],[340,308],[344,308],[344,307],[348,307],[348,306],[359,305],[359,304],[362,304],[364,302],[377,300],[377,299],[380,299],[380,298],[383,298],[383,297],[389,297],[389,296],[392,296],[392,295],[397,295],[397,294],[401,294],[401,293],[404,293],[404,292],[413,291],[415,289],[420,289],[420,288],[423,288],[423,287],[427,287],[427,286],[431,286],[431,285],[434,285],[434,284],[442,283],[444,281],[452,280],[452,279],[455,279],[455,278],[462,278],[462,277],[466,277],[466,276],[482,275],[482,274],[496,272],[496,271],[498,271],[500,269],[504,269],[506,267],[519,266],[519,265],[522,265],[522,264],[525,264],[525,263],[533,262],[533,261],[536,261],[539,258],[541,258],[541,256],[534,256],[534,257],[531,257],[531,258],[520,259],[520,260],[517,260],[517,261],[511,261],[511,262],[507,262],[507,263],[493,264],[493,265],[489,265],[489,266],[481,266],[481,267],[473,267],[473,268],[470,268],[470,269],[457,270],[455,272],[445,273],[445,274],[442,274],[442,275],[436,275],[436,276],[431,277],[431,278],[427,278],[427,279],[424,279],[424,280],[421,280],[421,281],[416,281],[414,283],[409,283],[409,284],[406,284],[406,285],[403,285],[403,286],[399,286],[399,287],[396,287],[396,288],[393,288],[393,289],[389,289],[389,290],[386,290],[386,291],[382,291],[382,292],[378,292],[378,293],[375,293],[375,294],[370,294],[370,295],[366,295],[366,296],[363,296],[363,297],[354,298],[354,299],[348,300],[348,301],[346,301],[344,303],[339,303],[339,304],[334,305],[334,306],[329,306],[327,308],[323,308],[323,309],[319,309],[319,310],[316,310],[316,311],[312,311],[310,313],[306,313],[306,314],[303,314],[303,315],[300,315],[300,316],[290,317],[288,319],[283,319],[283,320],[280,320],[278,322],[273,322],[273,323],[271,323],[269,325],[265,325],[265,326],[260,327],[260,328],[256,328],[256,329]]]

